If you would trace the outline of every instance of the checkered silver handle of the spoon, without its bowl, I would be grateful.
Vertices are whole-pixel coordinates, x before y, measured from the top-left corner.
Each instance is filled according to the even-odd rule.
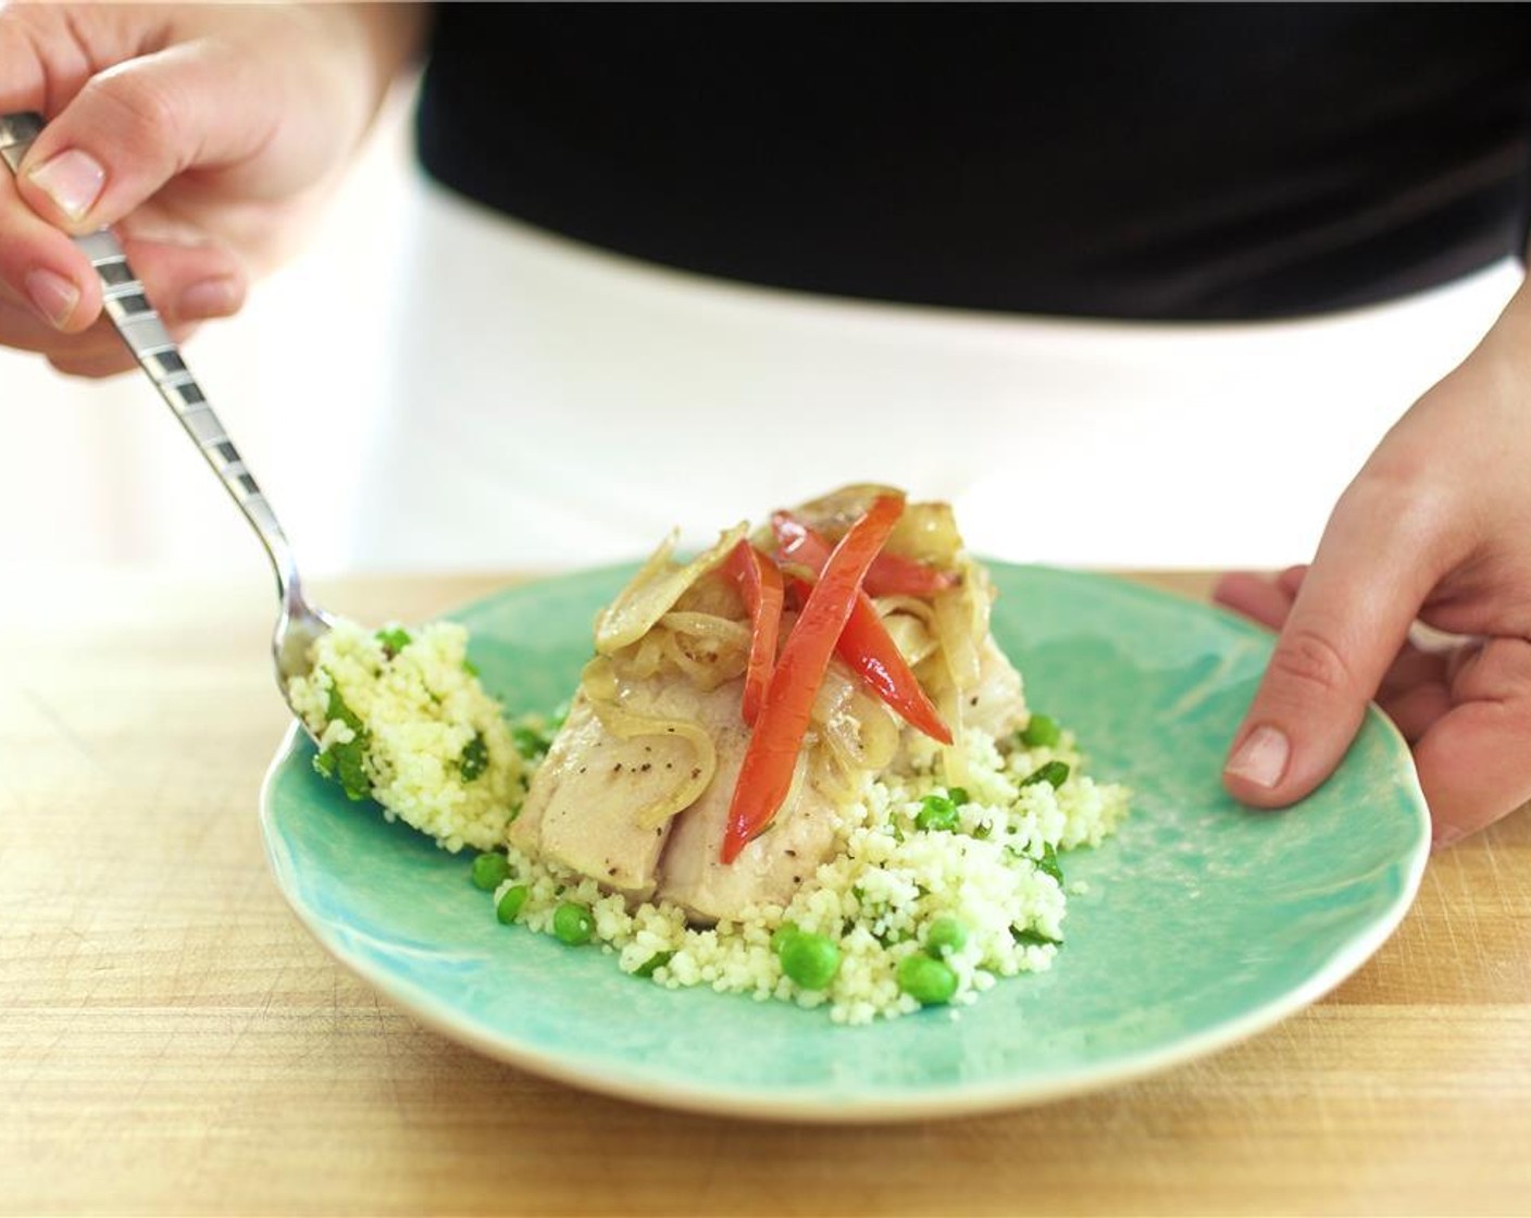
[[[0,115],[0,159],[5,159],[12,173],[20,172],[26,150],[41,130],[41,115]],[[265,545],[276,570],[277,593],[286,604],[297,591],[297,567],[286,535],[207,394],[181,357],[170,331],[159,320],[144,285],[127,265],[127,254],[107,228],[73,237],[73,242],[101,277],[106,316]]]

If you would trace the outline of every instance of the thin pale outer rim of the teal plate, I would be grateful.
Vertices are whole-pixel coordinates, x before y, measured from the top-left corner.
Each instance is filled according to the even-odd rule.
[[[1127,593],[1157,605],[1168,604],[1179,610],[1205,614],[1216,619],[1225,628],[1242,628],[1254,637],[1263,637],[1265,634],[1260,627],[1217,605],[1179,596],[1173,591],[1165,591],[1115,573],[1047,564],[1015,564],[997,559],[978,561],[984,562],[991,570],[1009,568],[1023,573],[1041,573],[1046,578],[1059,576],[1087,582],[1105,581],[1118,593]],[[456,614],[468,614],[488,608],[495,601],[516,588],[557,582],[571,576],[596,578],[629,565],[583,567],[562,575],[507,584],[449,608],[438,614],[438,617],[450,619]],[[1401,748],[1401,755],[1409,760],[1410,751],[1407,742],[1404,742],[1392,720],[1375,703],[1367,703],[1366,714],[1367,719],[1375,720],[1384,734],[1390,737],[1390,743],[1395,748]],[[813,1089],[762,1091],[750,1086],[689,1085],[674,1079],[657,1085],[654,1079],[640,1077],[628,1071],[614,1074],[611,1062],[571,1060],[568,1053],[550,1051],[513,1039],[507,1040],[502,1034],[487,1034],[470,1017],[461,1016],[450,1002],[430,990],[398,977],[367,956],[349,953],[343,942],[344,936],[335,932],[334,924],[309,910],[302,896],[291,887],[289,878],[283,872],[283,863],[277,855],[279,835],[273,830],[273,789],[299,746],[299,725],[295,722],[289,723],[274,755],[266,763],[259,792],[262,846],[266,866],[288,909],[331,959],[360,977],[423,1026],[495,1060],[537,1074],[539,1077],[648,1106],[750,1120],[844,1125],[977,1115],[1087,1095],[1211,1056],[1248,1040],[1311,1007],[1358,971],[1392,938],[1393,932],[1409,915],[1430,858],[1430,812],[1410,760],[1407,772],[1401,777],[1407,778],[1402,794],[1409,797],[1409,807],[1413,810],[1416,821],[1415,849],[1407,856],[1407,867],[1401,872],[1402,882],[1398,892],[1386,910],[1366,925],[1364,932],[1347,939],[1338,950],[1332,951],[1323,965],[1314,970],[1303,984],[1291,987],[1277,997],[1234,1017],[1217,1020],[1208,1028],[1177,1037],[1167,1045],[1139,1049],[1098,1066],[1073,1069],[1043,1079],[1029,1079],[1021,1083],[1004,1079],[963,1080],[940,1091],[911,1088],[877,1095],[828,1094]],[[853,1028],[842,1031],[847,1036],[856,1034]]]

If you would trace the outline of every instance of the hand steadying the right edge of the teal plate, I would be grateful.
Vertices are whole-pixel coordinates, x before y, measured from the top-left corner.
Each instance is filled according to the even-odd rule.
[[[1387,434],[1307,568],[1216,598],[1280,631],[1223,774],[1286,806],[1376,699],[1413,748],[1438,846],[1531,800],[1531,285]],[[1415,620],[1464,636],[1410,642]]]

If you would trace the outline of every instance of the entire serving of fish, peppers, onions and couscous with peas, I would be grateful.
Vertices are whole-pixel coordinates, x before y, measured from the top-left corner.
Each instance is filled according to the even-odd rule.
[[[441,625],[325,640],[295,705],[322,768],[481,852],[501,922],[865,1023],[1047,968],[1061,855],[1127,810],[1027,706],[992,601],[948,504],[850,486],[684,559],[663,542],[553,722],[507,725]]]

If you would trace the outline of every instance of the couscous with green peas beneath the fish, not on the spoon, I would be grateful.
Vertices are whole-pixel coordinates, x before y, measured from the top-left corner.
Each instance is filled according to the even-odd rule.
[[[694,927],[672,902],[632,907],[510,847],[496,909],[502,921],[599,944],[660,985],[825,1005],[837,1023],[974,1002],[998,977],[1052,965],[1067,902],[1059,856],[1099,844],[1127,812],[1122,786],[1079,772],[1072,732],[1041,715],[1032,726],[1049,743],[969,732],[966,787],[934,772],[873,783],[845,809],[836,856],[785,907]],[[784,967],[793,938],[810,985]],[[827,984],[811,984],[816,968]]]

